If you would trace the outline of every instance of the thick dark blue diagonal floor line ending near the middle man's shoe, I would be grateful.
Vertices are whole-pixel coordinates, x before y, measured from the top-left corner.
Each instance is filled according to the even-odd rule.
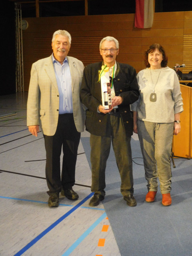
[[[40,240],[43,236],[45,236],[50,230],[52,230],[55,226],[57,226],[62,220],[64,220],[66,217],[68,217],[72,212],[74,212],[77,208],[79,208],[84,202],[86,202],[91,196],[93,196],[94,193],[89,194],[84,198],[81,202],[79,202],[76,206],[74,206],[71,210],[66,212],[62,217],[60,217],[56,222],[54,222],[52,225],[50,225],[46,230],[44,230],[41,234],[36,236],[30,243],[28,243],[26,246],[24,246],[19,252],[14,254],[14,256],[20,256],[24,252],[26,252],[31,246],[33,246],[38,240]]]

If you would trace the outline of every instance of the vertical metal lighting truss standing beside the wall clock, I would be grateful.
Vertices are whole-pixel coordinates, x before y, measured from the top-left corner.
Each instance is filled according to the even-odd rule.
[[[15,3],[16,92],[24,92],[21,4]]]

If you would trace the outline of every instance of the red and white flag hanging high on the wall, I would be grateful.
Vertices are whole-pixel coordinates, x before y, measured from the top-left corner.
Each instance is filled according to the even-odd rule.
[[[153,12],[153,0],[136,0],[135,28],[151,28]]]

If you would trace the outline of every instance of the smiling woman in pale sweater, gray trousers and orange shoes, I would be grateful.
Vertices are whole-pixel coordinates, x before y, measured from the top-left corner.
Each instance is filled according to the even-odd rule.
[[[170,154],[173,134],[180,130],[183,102],[176,72],[160,44],[152,44],[144,54],[146,68],[137,75],[140,97],[132,104],[134,132],[138,133],[148,182],[146,202],[153,202],[160,182],[162,204],[172,203]]]

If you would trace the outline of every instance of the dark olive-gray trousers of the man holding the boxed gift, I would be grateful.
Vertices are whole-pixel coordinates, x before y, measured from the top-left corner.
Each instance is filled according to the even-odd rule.
[[[121,177],[123,196],[133,194],[133,171],[131,136],[126,138],[124,125],[119,112],[108,115],[106,136],[90,135],[92,186],[91,191],[105,196],[105,169],[112,142],[117,167]]]

